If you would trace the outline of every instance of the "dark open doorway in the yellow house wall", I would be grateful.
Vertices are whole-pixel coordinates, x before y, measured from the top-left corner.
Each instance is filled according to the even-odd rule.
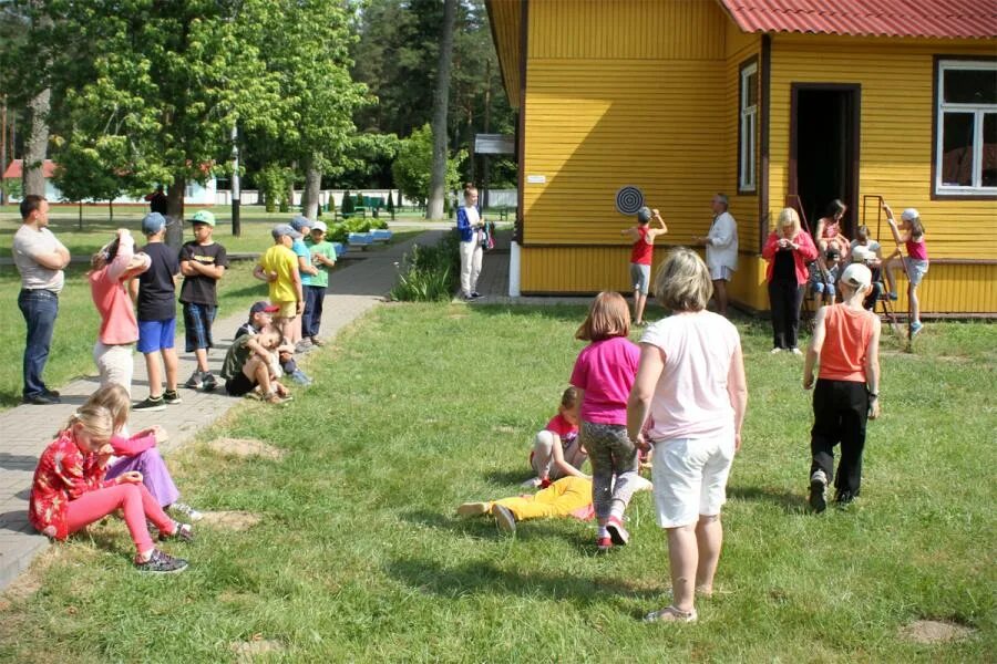
[[[859,225],[859,106],[861,87],[794,83],[790,122],[789,193],[800,197],[811,232],[835,198],[849,206],[842,231]]]

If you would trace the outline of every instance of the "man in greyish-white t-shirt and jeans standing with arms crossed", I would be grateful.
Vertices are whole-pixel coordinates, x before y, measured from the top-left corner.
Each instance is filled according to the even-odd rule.
[[[62,269],[69,264],[69,249],[49,230],[49,201],[29,195],[21,201],[21,228],[14,234],[13,259],[21,273],[18,307],[28,324],[24,345],[24,403],[58,404],[59,393],[49,390],[42,372],[49,360],[59,293],[65,279]]]

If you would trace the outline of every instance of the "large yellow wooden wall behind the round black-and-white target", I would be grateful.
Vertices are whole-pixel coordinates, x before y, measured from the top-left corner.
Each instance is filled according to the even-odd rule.
[[[723,135],[726,22],[699,0],[530,3],[525,245],[627,246],[624,185],[661,210],[668,241],[706,232],[737,159]]]

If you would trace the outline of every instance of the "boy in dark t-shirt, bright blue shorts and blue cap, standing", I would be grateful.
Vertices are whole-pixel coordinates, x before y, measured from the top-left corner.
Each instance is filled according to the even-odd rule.
[[[177,359],[173,340],[176,336],[176,278],[179,260],[174,249],[163,242],[166,235],[166,218],[160,212],[150,212],[142,220],[142,232],[148,243],[142,249],[152,264],[148,270],[132,281],[137,288],[138,352],[145,355],[148,373],[148,397],[135,404],[133,411],[162,411],[166,404],[181,403],[176,391]],[[162,390],[163,372],[166,371],[166,391]]]

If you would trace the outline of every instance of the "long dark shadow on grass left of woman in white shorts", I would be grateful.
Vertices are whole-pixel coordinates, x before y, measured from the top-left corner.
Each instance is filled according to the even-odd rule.
[[[471,561],[448,567],[435,560],[405,558],[386,566],[394,579],[423,593],[443,598],[467,594],[508,594],[539,600],[568,600],[579,606],[607,600],[660,598],[658,589],[582,574],[505,570],[492,561]]]

